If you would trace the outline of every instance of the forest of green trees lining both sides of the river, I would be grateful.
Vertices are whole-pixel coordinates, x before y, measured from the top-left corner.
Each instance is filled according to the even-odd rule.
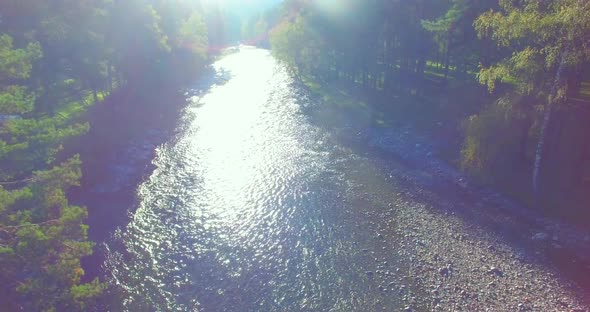
[[[68,146],[89,131],[91,108],[122,90],[181,89],[239,40],[270,48],[318,93],[347,90],[448,141],[440,157],[477,183],[589,224],[589,1],[286,0],[250,13],[189,0],[2,1],[7,310],[88,310],[106,288],[84,279],[95,242],[86,208],[68,201],[84,161]]]

